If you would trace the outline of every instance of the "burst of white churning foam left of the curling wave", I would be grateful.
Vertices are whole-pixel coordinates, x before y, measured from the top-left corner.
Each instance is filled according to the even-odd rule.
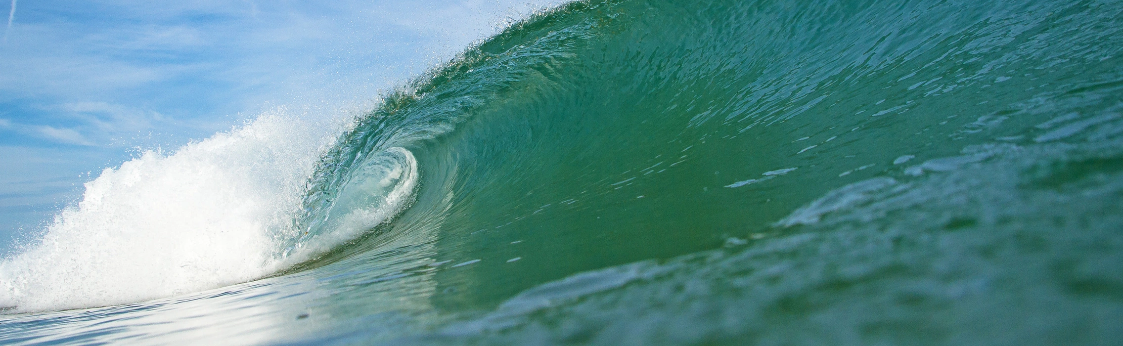
[[[0,307],[128,303],[282,268],[279,235],[343,127],[281,113],[102,171],[39,243],[0,263]]]

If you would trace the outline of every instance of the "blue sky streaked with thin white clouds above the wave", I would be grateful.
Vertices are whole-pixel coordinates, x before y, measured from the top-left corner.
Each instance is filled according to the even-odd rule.
[[[0,43],[0,244],[40,229],[83,182],[139,149],[175,149],[282,106],[368,104],[555,3],[11,1]]]

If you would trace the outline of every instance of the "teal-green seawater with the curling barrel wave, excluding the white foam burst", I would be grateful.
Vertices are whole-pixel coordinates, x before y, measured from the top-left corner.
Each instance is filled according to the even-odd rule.
[[[356,119],[272,234],[299,264],[13,298],[0,343],[1117,345],[1121,29],[1117,1],[568,3]]]

